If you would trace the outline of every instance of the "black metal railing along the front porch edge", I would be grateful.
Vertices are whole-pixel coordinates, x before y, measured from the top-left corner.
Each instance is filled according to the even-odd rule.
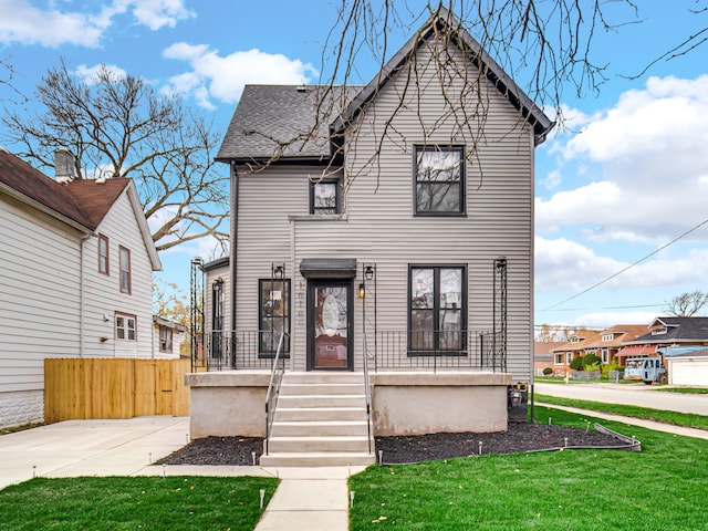
[[[205,333],[200,355],[209,371],[270,369],[278,347],[270,331],[211,331]],[[273,348],[269,348],[274,340]],[[506,341],[502,332],[379,331],[368,341],[368,371],[470,369],[504,372]],[[290,357],[285,335],[281,356]]]

